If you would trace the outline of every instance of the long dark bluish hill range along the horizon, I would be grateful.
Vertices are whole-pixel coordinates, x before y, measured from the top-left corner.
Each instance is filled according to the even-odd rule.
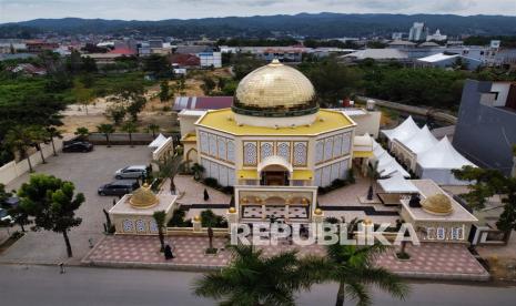
[[[295,16],[255,16],[160,21],[104,19],[36,19],[0,24],[0,37],[30,37],[42,32],[60,34],[150,34],[196,38],[264,38],[273,33],[311,38],[364,37],[408,32],[412,23],[424,21],[431,31],[448,35],[516,35],[516,17],[454,14],[345,14],[300,13]]]

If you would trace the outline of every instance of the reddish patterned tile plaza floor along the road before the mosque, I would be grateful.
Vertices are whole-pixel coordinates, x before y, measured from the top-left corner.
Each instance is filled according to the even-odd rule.
[[[214,238],[214,246],[222,248],[219,254],[204,255],[208,237],[169,236],[165,241],[175,246],[174,259],[165,261],[159,252],[160,243],[155,236],[107,236],[101,241],[82,263],[93,265],[163,264],[176,267],[220,267],[229,263],[231,253],[223,249],[226,239]],[[300,255],[307,254],[323,256],[324,247],[320,245],[292,246],[261,246],[266,256],[282,251],[297,248]],[[411,259],[402,262],[395,258],[394,249],[381,255],[376,261],[380,266],[389,271],[414,277],[485,279],[488,277],[484,267],[473,257],[465,245],[423,243],[419,246],[407,246]]]

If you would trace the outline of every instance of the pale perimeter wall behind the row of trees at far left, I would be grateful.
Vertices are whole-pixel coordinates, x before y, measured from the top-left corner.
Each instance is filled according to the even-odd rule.
[[[61,151],[63,146],[63,140],[54,139],[55,151]],[[41,144],[41,150],[43,151],[44,159],[51,156],[53,154],[52,144]],[[36,151],[30,156],[30,162],[32,167],[36,165],[41,164],[43,161],[41,160],[41,154],[39,151]],[[21,160],[19,162],[11,161],[0,167],[0,184],[9,184],[17,177],[21,176],[23,173],[29,171],[29,162],[27,159]]]

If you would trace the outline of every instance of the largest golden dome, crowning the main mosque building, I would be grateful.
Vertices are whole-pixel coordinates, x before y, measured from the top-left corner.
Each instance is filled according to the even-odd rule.
[[[233,103],[235,113],[257,116],[295,116],[317,110],[310,80],[277,60],[242,79]]]

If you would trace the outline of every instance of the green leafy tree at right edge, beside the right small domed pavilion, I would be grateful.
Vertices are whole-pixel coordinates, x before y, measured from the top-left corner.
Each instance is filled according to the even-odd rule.
[[[516,177],[507,177],[493,169],[463,166],[453,170],[458,180],[473,182],[469,192],[463,194],[464,198],[475,210],[482,210],[487,198],[499,195],[504,207],[496,226],[505,233],[504,241],[508,242],[510,234],[516,230]]]

